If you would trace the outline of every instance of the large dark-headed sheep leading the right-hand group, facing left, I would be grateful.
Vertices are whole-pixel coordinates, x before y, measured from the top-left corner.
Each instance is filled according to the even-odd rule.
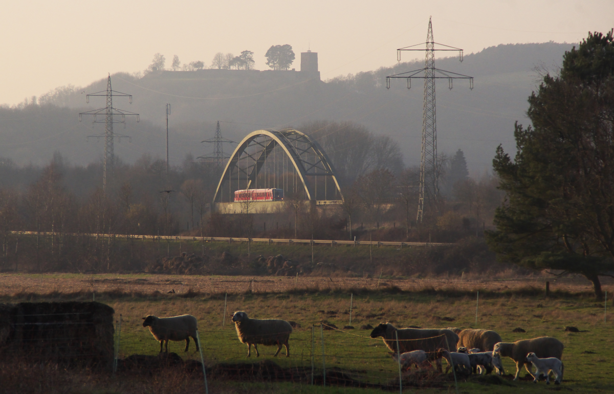
[[[397,352],[397,337],[400,352],[411,352],[413,350],[424,350],[429,355],[428,360],[435,361],[437,369],[441,371],[441,356],[437,356],[437,349],[440,347],[456,350],[458,336],[453,331],[446,328],[400,328],[397,329],[391,323],[379,323],[371,331],[371,338],[381,336],[388,349]]]

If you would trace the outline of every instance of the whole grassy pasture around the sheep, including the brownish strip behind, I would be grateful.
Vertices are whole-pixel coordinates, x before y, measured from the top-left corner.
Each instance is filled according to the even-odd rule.
[[[141,318],[145,315],[163,317],[189,313],[195,315],[199,321],[201,344],[208,368],[219,363],[273,360],[284,368],[310,369],[311,326],[317,324],[314,338],[316,374],[320,374],[322,370],[319,323],[326,320],[342,329],[342,331],[324,331],[327,370],[351,371],[356,379],[379,384],[398,379],[397,365],[388,355],[388,350],[381,340],[370,339],[368,338],[370,330],[359,329],[362,325],[375,326],[379,322],[387,321],[397,327],[416,325],[424,328],[447,326],[486,328],[499,332],[504,341],[548,335],[560,339],[565,344],[564,382],[561,386],[551,384],[547,387],[548,390],[571,389],[575,392],[597,393],[611,392],[614,387],[610,363],[610,357],[614,354],[612,336],[614,317],[610,318],[608,314],[608,322],[604,322],[604,305],[594,301],[593,295],[586,291],[585,282],[569,280],[560,285],[553,285],[551,287],[553,293],[550,298],[545,299],[541,289],[543,282],[532,282],[527,279],[467,280],[462,283],[435,279],[426,282],[383,279],[385,285],[380,284],[379,288],[376,288],[373,279],[368,279],[371,282],[360,282],[367,280],[362,278],[352,279],[357,282],[348,283],[341,279],[333,279],[332,287],[324,285],[327,283],[325,279],[328,278],[305,278],[305,282],[302,285],[299,282],[297,286],[286,283],[292,279],[282,278],[281,281],[275,277],[258,279],[261,282],[257,283],[256,292],[251,293],[246,291],[246,278],[241,277],[2,274],[0,302],[89,300],[93,297],[91,288],[95,288],[96,301],[113,307],[117,319],[120,314],[122,315],[120,357],[135,353],[158,354],[160,345],[149,330],[142,327]],[[168,282],[169,280],[176,282]],[[311,280],[311,283],[307,282],[308,280]],[[186,282],[190,284],[185,285]],[[219,287],[212,286],[211,282],[216,282]],[[181,283],[184,285],[179,292],[177,284],[181,286]],[[207,288],[206,284],[210,287]],[[173,287],[176,293],[162,292],[169,286]],[[609,284],[605,285],[604,289],[611,294]],[[480,304],[476,324],[477,290],[480,290]],[[228,292],[227,314],[225,325],[222,326],[225,292]],[[343,330],[343,326],[349,325],[351,294],[351,325],[357,329]],[[281,318],[300,323],[301,328],[295,329],[290,336],[291,357],[273,358],[275,348],[261,346],[260,358],[255,358],[252,349],[252,357],[247,359],[247,346],[238,341],[234,326],[229,322],[232,312],[238,310],[248,312],[250,317]],[[564,326],[576,326],[581,332],[565,332]],[[523,328],[526,333],[513,333],[516,327]],[[200,360],[200,355],[194,351],[193,343],[190,344],[188,353],[182,351],[184,346],[184,342],[170,342],[169,351],[176,352],[184,358]],[[284,352],[285,349],[282,349],[281,354],[284,355]],[[507,373],[515,373],[515,366],[510,360],[506,359],[503,362]],[[21,374],[23,373],[22,370]],[[2,375],[0,380],[4,382],[9,382],[10,377],[15,376],[6,368],[2,369],[0,374]],[[61,376],[58,377],[58,374]],[[41,379],[47,376],[47,379],[55,382],[52,387],[58,388],[56,392],[170,393],[176,392],[177,386],[185,393],[203,392],[201,376],[198,374],[191,375],[190,379],[185,379],[184,376],[183,380],[170,372],[155,376],[118,374],[114,379],[87,372],[73,371],[67,376],[62,374],[58,372],[55,375],[32,374],[30,380],[32,384],[28,385],[28,390],[20,391],[51,392],[49,383],[45,385],[41,382]],[[521,372],[521,377],[525,375],[525,371]],[[21,380],[23,384],[23,379]],[[419,389],[406,387],[403,392],[454,392],[454,380],[451,376],[435,377],[432,386]],[[15,386],[4,384],[0,387],[0,392],[10,392],[10,387]],[[63,389],[60,390],[60,387]],[[322,390],[321,386],[311,387],[304,383],[250,382],[236,379],[211,379],[209,387],[212,393],[383,392],[375,389],[344,387]],[[535,385],[528,380],[511,382],[509,379],[476,376],[459,382],[459,392],[462,393],[516,393],[518,390],[526,393],[543,392],[546,390],[546,385],[543,382]]]

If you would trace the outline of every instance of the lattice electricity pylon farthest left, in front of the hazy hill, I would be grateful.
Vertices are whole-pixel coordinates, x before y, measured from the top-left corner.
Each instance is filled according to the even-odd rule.
[[[114,147],[113,140],[114,138],[127,138],[128,136],[123,136],[122,134],[117,134],[113,132],[113,123],[123,123],[124,127],[126,126],[126,115],[136,115],[136,122],[139,122],[139,114],[134,112],[126,111],[123,109],[118,109],[113,107],[113,96],[122,96],[128,97],[130,104],[132,104],[132,95],[128,95],[126,93],[122,93],[120,91],[115,91],[111,89],[111,73],[109,73],[109,79],[107,79],[107,90],[97,91],[96,93],[90,93],[85,96],[85,101],[90,102],[90,96],[104,96],[107,98],[107,106],[100,109],[95,109],[87,112],[81,112],[79,114],[79,122],[81,122],[82,115],[94,115],[93,123],[104,123],[104,134],[99,134],[98,136],[89,136],[101,138],[104,136],[104,168],[103,168],[103,193],[106,191],[107,187],[107,174],[112,174],[113,166],[114,166]],[[104,114],[104,122],[96,119],[96,115]],[[122,120],[115,120],[114,115],[121,115]]]

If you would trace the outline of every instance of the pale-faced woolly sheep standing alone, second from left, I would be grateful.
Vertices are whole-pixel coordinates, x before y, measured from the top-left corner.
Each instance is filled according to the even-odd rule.
[[[247,357],[251,357],[252,344],[256,350],[256,357],[260,357],[257,345],[277,345],[276,357],[282,345],[286,346],[286,357],[290,357],[288,339],[292,333],[292,326],[286,320],[279,319],[249,319],[246,312],[235,312],[232,317],[235,322],[236,334],[239,341],[247,344]]]

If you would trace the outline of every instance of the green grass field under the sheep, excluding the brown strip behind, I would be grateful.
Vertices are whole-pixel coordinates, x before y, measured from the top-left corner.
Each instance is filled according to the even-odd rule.
[[[361,325],[375,326],[379,322],[391,322],[397,327],[409,325],[423,328],[457,326],[460,328],[486,328],[499,332],[504,341],[554,336],[565,344],[563,361],[565,379],[561,386],[551,384],[549,390],[573,390],[581,393],[612,392],[614,377],[610,371],[609,357],[614,354],[612,322],[604,322],[604,306],[596,304],[586,295],[556,293],[550,299],[543,296],[526,296],[522,293],[488,293],[480,297],[478,323],[475,322],[476,299],[470,296],[452,296],[448,292],[427,295],[424,293],[386,291],[360,291],[352,297],[352,323],[356,330],[324,331],[325,363],[328,370],[339,368],[353,371],[356,379],[372,383],[385,383],[398,379],[398,367],[388,354],[381,339],[368,338],[370,330],[358,329]],[[42,301],[42,295],[36,301]],[[47,299],[50,300],[50,299]],[[19,302],[15,296],[2,298],[2,302]],[[314,329],[314,369],[322,371],[322,337],[319,323],[327,320],[339,328],[349,325],[350,292],[306,292],[297,293],[255,293],[228,294],[225,325],[223,322],[224,299],[220,295],[196,295],[183,298],[177,295],[122,296],[99,295],[96,301],[109,304],[115,309],[115,317],[122,317],[120,357],[131,354],[157,355],[160,345],[147,328],[142,326],[142,317],[153,314],[165,317],[178,314],[192,314],[199,321],[201,344],[206,365],[217,363],[257,362],[274,360],[282,367],[311,367],[312,325]],[[608,306],[609,307],[609,306]],[[241,344],[234,325],[230,322],[234,311],[246,311],[254,318],[278,318],[300,323],[290,336],[291,357],[273,358],[274,347],[260,347],[260,358],[247,358],[247,346]],[[324,312],[322,312],[324,311]],[[327,313],[330,312],[330,313]],[[333,312],[335,312],[333,314]],[[448,319],[449,318],[449,319]],[[447,320],[454,319],[452,322]],[[614,316],[612,316],[614,319]],[[564,326],[576,326],[581,333],[568,333]],[[516,327],[526,333],[513,333]],[[184,358],[200,360],[193,343],[190,351],[184,353],[185,342],[170,342],[169,351]],[[285,354],[282,349],[281,355]],[[505,359],[507,373],[515,373],[515,365]],[[521,377],[526,371],[521,372]],[[120,378],[120,377],[118,377]],[[124,377],[123,379],[128,379]],[[131,379],[136,379],[131,377]],[[157,377],[160,379],[160,377]],[[154,379],[155,380],[155,379]],[[194,380],[194,379],[193,379]],[[454,380],[446,377],[435,378],[435,388],[421,388],[419,392],[455,392]],[[149,389],[134,391],[133,384],[112,384],[101,380],[98,384],[86,385],[85,392],[173,392],[168,384],[158,385],[155,390],[152,380],[143,381]],[[202,382],[192,383],[195,392]],[[151,385],[151,386],[147,386]],[[238,382],[212,380],[210,392],[227,393],[373,393],[381,390],[343,387],[311,387],[305,384]],[[144,387],[145,387],[144,386]],[[84,386],[85,387],[85,386]],[[95,390],[91,387],[98,387]],[[166,388],[165,388],[166,387]],[[200,387],[200,388],[199,388]],[[527,393],[543,392],[545,382],[534,384],[529,380],[512,382],[508,379],[491,379],[472,376],[459,381],[462,393]],[[185,387],[184,392],[191,392]],[[404,392],[416,388],[407,387]],[[1,392],[1,389],[0,389]],[[70,392],[70,391],[69,391]],[[74,391],[79,392],[79,391]]]

